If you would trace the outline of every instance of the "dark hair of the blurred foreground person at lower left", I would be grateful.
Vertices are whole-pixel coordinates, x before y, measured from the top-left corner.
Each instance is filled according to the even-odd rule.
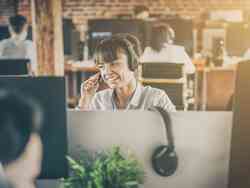
[[[31,133],[39,133],[42,111],[19,91],[0,89],[0,162],[8,164],[25,150]]]

